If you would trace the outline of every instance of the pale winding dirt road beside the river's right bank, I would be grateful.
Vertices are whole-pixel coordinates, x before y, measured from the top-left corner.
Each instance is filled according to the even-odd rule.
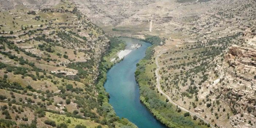
[[[158,68],[156,69],[155,73],[156,73],[157,88],[158,88],[159,92],[162,93],[164,96],[166,96],[167,99],[169,100],[169,102],[171,102],[171,103],[174,104],[175,106],[178,106],[180,109],[182,109],[182,110],[184,110],[184,111],[186,111],[186,112],[189,112],[191,116],[194,116],[194,115],[195,115],[195,116],[197,116],[199,119],[205,121],[205,123],[210,124],[210,123],[209,123],[208,121],[206,121],[203,117],[201,117],[201,116],[197,115],[196,113],[191,112],[191,111],[189,111],[189,110],[183,108],[182,106],[176,104],[176,103],[175,103],[174,101],[172,101],[171,98],[170,98],[166,93],[164,93],[163,90],[161,89],[161,87],[160,87],[160,76],[159,76],[159,74],[158,74],[158,71],[160,70],[160,66],[159,66],[159,64],[158,64],[158,58],[159,58],[159,57],[164,53],[164,51],[166,51],[166,50],[168,50],[168,49],[164,49],[164,50],[160,51],[160,53],[156,56],[156,59],[155,59],[155,60],[156,60],[156,66],[158,67]],[[215,128],[212,124],[210,124],[210,126],[211,126],[212,128]]]

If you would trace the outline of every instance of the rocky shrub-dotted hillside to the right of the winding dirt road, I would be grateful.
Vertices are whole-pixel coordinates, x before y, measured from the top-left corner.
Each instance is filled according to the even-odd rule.
[[[156,48],[156,54],[168,49],[160,56],[162,88],[217,127],[255,127],[256,3],[204,4],[213,3],[195,19],[180,19],[165,46]]]

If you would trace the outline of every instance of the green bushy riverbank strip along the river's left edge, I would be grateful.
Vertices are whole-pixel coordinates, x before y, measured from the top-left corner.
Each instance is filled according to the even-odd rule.
[[[107,53],[102,57],[101,64],[99,66],[99,75],[96,84],[96,88],[98,90],[98,102],[101,103],[101,109],[104,109],[106,120],[111,120],[111,122],[115,122],[115,125],[119,127],[122,126],[129,126],[129,128],[137,128],[137,126],[131,123],[128,119],[122,118],[120,119],[117,117],[116,112],[114,111],[113,107],[109,104],[109,94],[105,91],[104,83],[106,81],[107,71],[114,65],[111,62],[111,58],[115,56],[120,50],[125,49],[125,43],[118,40],[117,38],[110,38],[110,47]],[[109,126],[115,127],[115,126]]]

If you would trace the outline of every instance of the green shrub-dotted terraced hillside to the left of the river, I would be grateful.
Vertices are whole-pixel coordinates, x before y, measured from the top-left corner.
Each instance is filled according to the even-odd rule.
[[[74,4],[16,5],[0,13],[0,31],[0,127],[136,127],[96,86],[112,44]]]

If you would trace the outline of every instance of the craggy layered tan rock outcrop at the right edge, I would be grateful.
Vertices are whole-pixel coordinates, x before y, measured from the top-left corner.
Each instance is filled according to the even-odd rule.
[[[232,125],[240,125],[243,120],[255,121],[255,101],[256,101],[256,36],[251,27],[244,32],[245,43],[242,46],[233,45],[225,55],[225,62],[228,66],[222,66],[225,72],[222,83],[223,99],[229,97],[227,101],[233,113],[238,113],[230,117]],[[241,116],[243,115],[243,116]],[[238,118],[237,118],[238,117]]]

